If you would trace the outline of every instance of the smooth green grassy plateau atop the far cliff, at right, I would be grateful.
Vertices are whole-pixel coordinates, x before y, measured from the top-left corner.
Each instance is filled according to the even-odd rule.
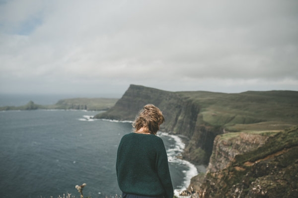
[[[203,120],[226,131],[281,130],[298,124],[298,92],[247,91],[238,94],[179,92],[201,107]]]

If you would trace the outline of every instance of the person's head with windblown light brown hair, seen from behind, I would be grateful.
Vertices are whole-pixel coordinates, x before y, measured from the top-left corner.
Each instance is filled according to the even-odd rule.
[[[143,110],[136,117],[133,127],[135,128],[135,132],[143,127],[144,132],[156,134],[159,130],[159,125],[162,123],[164,123],[164,117],[161,111],[154,105],[148,104],[143,107]]]

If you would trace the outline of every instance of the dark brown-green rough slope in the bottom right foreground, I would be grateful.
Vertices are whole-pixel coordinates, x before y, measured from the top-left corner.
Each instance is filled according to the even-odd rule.
[[[221,147],[221,142],[217,144]],[[214,158],[205,179],[200,178],[199,187],[195,186],[200,198],[297,198],[298,127],[271,134],[261,144],[231,157],[223,167],[214,165],[229,160]]]

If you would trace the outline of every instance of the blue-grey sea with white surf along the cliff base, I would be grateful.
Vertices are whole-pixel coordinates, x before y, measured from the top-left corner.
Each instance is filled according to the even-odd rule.
[[[0,197],[58,198],[86,183],[84,196],[115,197],[115,162],[121,137],[130,122],[94,120],[95,111],[0,111]],[[177,159],[184,144],[178,136],[163,139],[174,189],[185,189],[197,174],[194,165]]]

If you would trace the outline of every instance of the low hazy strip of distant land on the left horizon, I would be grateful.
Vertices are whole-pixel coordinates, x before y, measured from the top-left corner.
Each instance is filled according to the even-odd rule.
[[[36,109],[65,109],[65,110],[87,110],[87,111],[106,111],[113,107],[119,99],[116,98],[71,98],[59,100],[54,105],[38,105],[29,101],[23,106],[0,107],[0,111],[9,110],[36,110]]]

